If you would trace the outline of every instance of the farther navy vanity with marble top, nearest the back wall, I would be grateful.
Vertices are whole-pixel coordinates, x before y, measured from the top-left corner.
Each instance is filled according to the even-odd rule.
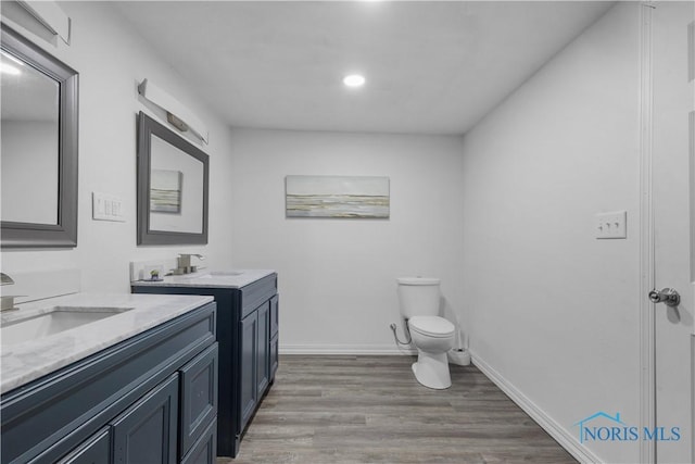
[[[131,283],[134,293],[206,294],[217,303],[217,455],[236,456],[244,429],[278,366],[278,286],[274,271],[202,271]]]

